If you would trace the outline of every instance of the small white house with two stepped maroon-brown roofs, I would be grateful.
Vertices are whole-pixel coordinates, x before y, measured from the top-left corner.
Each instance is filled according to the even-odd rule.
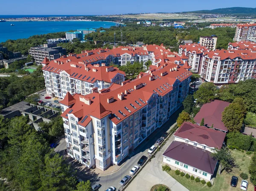
[[[218,161],[214,149],[221,149],[226,134],[212,128],[184,122],[175,132],[175,140],[163,153],[163,162],[201,180],[212,180]]]

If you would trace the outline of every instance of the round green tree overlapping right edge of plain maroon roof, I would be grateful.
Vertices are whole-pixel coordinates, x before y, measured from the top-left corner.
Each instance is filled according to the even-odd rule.
[[[231,103],[222,112],[222,121],[227,129],[232,131],[241,131],[244,121],[244,108],[239,103]]]

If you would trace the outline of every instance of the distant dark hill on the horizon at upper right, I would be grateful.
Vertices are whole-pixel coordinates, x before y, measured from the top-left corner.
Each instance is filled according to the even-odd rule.
[[[186,13],[202,13],[202,14],[256,14],[256,8],[247,7],[230,7],[213,10],[188,11]]]

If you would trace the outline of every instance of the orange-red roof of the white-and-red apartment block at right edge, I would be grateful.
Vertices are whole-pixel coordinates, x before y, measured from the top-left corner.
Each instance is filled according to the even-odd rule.
[[[237,57],[242,60],[255,60],[256,59],[256,51],[252,50],[217,50],[217,51],[208,51],[204,54],[204,56],[212,57],[220,57],[220,60],[235,59]]]

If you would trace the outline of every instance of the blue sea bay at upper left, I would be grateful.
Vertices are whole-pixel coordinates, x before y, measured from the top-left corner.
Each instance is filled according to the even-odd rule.
[[[14,17],[14,15],[6,15]],[[20,15],[23,17],[31,15]],[[35,16],[35,15],[33,15]],[[39,15],[38,15],[39,16]],[[45,15],[41,15],[45,17]],[[3,15],[0,15],[3,18]],[[15,26],[11,26],[14,24]],[[104,21],[15,21],[15,22],[0,22],[0,43],[8,39],[17,40],[19,38],[28,38],[35,34],[47,34],[52,32],[70,31],[76,29],[100,27],[110,28],[116,23]]]

